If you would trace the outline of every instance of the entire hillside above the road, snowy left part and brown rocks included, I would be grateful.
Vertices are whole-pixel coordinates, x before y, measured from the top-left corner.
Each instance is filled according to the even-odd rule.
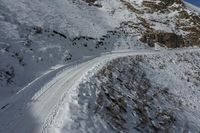
[[[1,0],[0,90],[16,93],[52,66],[83,56],[199,45],[199,20],[180,0]]]

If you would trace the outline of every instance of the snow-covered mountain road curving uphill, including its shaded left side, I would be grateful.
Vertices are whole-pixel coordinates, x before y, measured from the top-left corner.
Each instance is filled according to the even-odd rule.
[[[67,67],[62,66],[49,71],[17,95],[0,104],[0,132],[56,132],[55,126],[52,127],[51,125],[62,125],[62,123],[56,123],[57,118],[63,118],[65,122],[69,121],[70,115],[66,115],[69,108],[65,108],[65,116],[63,116],[62,104],[75,96],[76,87],[84,78],[95,73],[106,62],[114,58],[160,52],[163,51],[143,50],[105,53],[83,63],[72,63]],[[59,112],[61,112],[60,117],[55,118]],[[56,128],[59,129],[60,127]]]

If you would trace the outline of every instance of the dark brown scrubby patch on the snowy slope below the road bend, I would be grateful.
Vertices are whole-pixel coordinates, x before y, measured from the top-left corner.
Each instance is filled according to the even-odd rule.
[[[156,101],[162,97],[169,104],[174,102],[173,106],[176,102],[167,88],[152,87],[140,68],[138,61],[141,60],[140,56],[118,59],[100,72],[99,77],[109,80],[102,82],[96,113],[116,132],[131,132],[132,129],[135,132],[170,132],[176,121],[175,114],[165,105],[160,108],[162,105],[156,105]],[[120,68],[121,65],[124,67]]]

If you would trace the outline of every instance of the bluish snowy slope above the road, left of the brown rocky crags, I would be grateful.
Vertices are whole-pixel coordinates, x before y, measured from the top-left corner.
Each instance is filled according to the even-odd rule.
[[[102,4],[97,8],[81,0],[1,0],[1,94],[16,93],[51,66],[138,45],[137,37],[127,36],[129,31],[120,27],[124,20],[135,21],[135,14],[124,10],[120,1]]]

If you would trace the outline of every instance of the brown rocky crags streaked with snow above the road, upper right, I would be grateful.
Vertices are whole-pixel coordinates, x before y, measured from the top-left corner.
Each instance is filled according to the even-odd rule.
[[[172,6],[174,3],[179,6]],[[157,31],[152,27],[153,21],[162,23],[159,20],[144,20],[142,21],[143,27],[146,31],[142,33],[140,41],[147,43],[149,46],[154,47],[155,43],[168,48],[189,47],[200,45],[200,16],[194,12],[188,12],[181,0],[161,0],[156,1],[143,1],[146,11],[154,13],[159,11],[161,14],[165,11],[179,11],[175,19],[175,31]],[[141,19],[140,19],[141,20]],[[170,21],[170,20],[169,20]],[[145,26],[145,25],[148,25]],[[163,23],[162,23],[163,24]],[[167,23],[166,23],[167,24]],[[184,32],[184,34],[182,34]]]

